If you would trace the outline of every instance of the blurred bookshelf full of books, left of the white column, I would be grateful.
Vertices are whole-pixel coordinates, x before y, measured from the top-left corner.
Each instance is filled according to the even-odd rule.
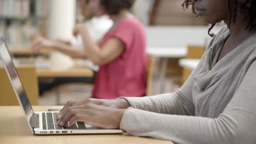
[[[0,0],[0,37],[27,44],[31,34],[46,35],[49,0]]]

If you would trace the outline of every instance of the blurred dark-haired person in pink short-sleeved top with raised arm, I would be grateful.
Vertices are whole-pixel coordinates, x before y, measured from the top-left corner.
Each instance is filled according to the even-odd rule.
[[[134,0],[91,0],[96,15],[109,15],[114,25],[97,44],[88,29],[77,25],[86,49],[84,55],[100,65],[92,98],[142,97],[146,93],[146,35],[142,23],[129,9]]]

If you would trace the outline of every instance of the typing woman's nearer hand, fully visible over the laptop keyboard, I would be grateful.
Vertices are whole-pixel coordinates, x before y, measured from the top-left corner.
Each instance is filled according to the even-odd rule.
[[[105,129],[118,129],[125,109],[88,103],[79,106],[68,106],[62,112],[58,124],[64,127],[69,122],[71,127],[75,122],[84,122]]]

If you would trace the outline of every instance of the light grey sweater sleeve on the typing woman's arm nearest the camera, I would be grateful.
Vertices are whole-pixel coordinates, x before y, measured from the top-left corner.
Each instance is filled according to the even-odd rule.
[[[255,143],[256,62],[217,118],[166,115],[127,109],[120,128],[135,136],[171,140],[174,143]],[[166,99],[170,100],[170,99]]]

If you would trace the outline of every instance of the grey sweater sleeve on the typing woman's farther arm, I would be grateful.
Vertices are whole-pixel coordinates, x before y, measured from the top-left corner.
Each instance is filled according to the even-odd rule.
[[[195,115],[192,87],[194,85],[194,76],[201,67],[202,62],[193,70],[181,89],[178,89],[178,91],[174,93],[160,94],[153,97],[120,98],[126,99],[131,107],[135,109],[172,115]]]

